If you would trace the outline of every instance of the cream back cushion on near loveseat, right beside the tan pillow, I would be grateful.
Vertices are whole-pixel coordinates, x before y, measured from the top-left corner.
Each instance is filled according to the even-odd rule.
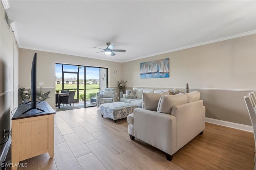
[[[156,111],[171,114],[173,106],[186,104],[187,102],[187,95],[164,95],[159,99]]]

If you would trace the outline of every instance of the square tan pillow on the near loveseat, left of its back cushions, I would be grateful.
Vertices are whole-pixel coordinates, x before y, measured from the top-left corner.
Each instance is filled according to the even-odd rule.
[[[156,111],[161,96],[169,93],[143,93],[143,109]]]

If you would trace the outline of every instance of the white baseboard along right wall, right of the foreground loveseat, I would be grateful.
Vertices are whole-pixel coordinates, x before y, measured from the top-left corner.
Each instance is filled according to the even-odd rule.
[[[239,129],[239,130],[242,130],[242,131],[253,132],[252,126],[249,126],[249,125],[243,125],[243,124],[233,123],[233,122],[229,122],[229,121],[212,119],[212,118],[208,118],[208,117],[205,118],[205,121],[208,122],[208,123],[213,123],[213,124],[216,124],[216,125],[231,127],[231,128]]]

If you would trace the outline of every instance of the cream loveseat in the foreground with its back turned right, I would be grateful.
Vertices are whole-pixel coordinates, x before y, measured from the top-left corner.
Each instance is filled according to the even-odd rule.
[[[203,133],[205,107],[199,92],[156,95],[147,94],[144,109],[136,108],[128,115],[128,133],[132,140],[138,138],[164,151],[166,158],[172,160],[175,152]]]

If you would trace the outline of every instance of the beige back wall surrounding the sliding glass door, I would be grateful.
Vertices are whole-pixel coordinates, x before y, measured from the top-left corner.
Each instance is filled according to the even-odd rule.
[[[55,63],[108,68],[108,85],[110,87],[116,87],[117,81],[122,78],[122,63],[20,48],[20,87],[30,88],[31,64],[34,53],[37,53],[37,87],[40,88],[38,82],[44,82],[43,89],[45,91],[51,91],[49,95],[50,98],[48,98],[46,101],[53,108],[55,108]],[[114,74],[114,70],[117,71],[117,74]]]

